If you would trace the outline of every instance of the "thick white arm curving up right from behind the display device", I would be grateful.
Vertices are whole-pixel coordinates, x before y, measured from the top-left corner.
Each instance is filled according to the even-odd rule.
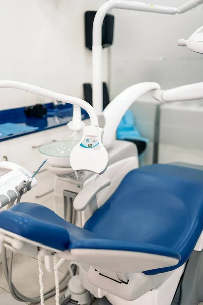
[[[156,82],[143,82],[133,85],[121,92],[111,101],[111,103],[107,105],[103,111],[105,117],[103,136],[104,145],[109,145],[112,143],[122,117],[129,107],[134,103],[134,101],[136,101],[144,93],[154,89],[160,89],[160,85]]]

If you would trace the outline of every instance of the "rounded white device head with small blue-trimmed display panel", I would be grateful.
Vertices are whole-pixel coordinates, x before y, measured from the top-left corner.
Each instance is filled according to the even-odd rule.
[[[102,136],[102,128],[84,127],[82,139],[70,155],[70,165],[74,171],[86,170],[101,175],[107,169],[109,158],[102,143]]]

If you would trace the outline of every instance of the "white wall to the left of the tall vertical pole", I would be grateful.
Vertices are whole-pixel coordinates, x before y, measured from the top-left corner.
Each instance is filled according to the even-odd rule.
[[[91,82],[84,12],[104,0],[0,0],[0,80],[17,80],[82,98]],[[108,53],[104,51],[104,80]],[[38,97],[0,90],[0,109],[32,105]],[[46,100],[47,101],[47,100]]]

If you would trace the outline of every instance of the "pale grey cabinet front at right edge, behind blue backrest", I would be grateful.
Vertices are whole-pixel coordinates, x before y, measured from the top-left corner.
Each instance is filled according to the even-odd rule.
[[[202,101],[161,106],[158,161],[203,165]]]

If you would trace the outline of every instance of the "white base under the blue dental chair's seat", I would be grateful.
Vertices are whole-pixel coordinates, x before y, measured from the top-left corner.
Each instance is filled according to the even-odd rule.
[[[112,305],[170,305],[184,268],[185,265],[154,276],[135,273],[128,275],[128,282],[118,278],[117,273],[110,278],[105,271],[99,273],[83,264],[80,264],[79,274],[83,287],[96,298],[105,296]],[[110,290],[112,293],[108,292]]]

